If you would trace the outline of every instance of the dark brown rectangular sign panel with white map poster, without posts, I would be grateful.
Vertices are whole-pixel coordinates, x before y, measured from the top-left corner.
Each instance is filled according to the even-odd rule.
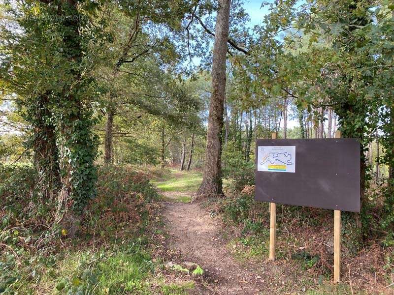
[[[258,140],[255,199],[360,212],[360,143],[354,138]]]

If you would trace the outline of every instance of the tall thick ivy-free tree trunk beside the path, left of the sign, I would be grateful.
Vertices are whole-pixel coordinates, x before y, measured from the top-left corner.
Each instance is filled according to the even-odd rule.
[[[219,0],[212,59],[212,96],[209,104],[205,165],[198,195],[221,195],[222,129],[226,95],[226,54],[231,0]]]

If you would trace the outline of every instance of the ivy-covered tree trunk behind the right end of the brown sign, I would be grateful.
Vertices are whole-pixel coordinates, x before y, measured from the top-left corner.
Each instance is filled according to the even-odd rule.
[[[343,137],[360,139],[361,213],[355,214],[356,225],[359,229],[357,238],[360,244],[369,230],[369,224],[362,222],[361,217],[368,202],[368,198],[365,196],[365,188],[367,180],[370,177],[366,173],[368,167],[365,152],[370,141],[366,134],[370,134],[373,128],[368,124],[367,120],[368,114],[373,113],[373,110],[371,109],[371,105],[365,104],[361,91],[365,85],[373,83],[373,78],[368,74],[362,75],[361,71],[355,71],[353,69],[361,69],[367,64],[374,64],[374,58],[370,54],[361,55],[358,51],[361,44],[365,44],[368,40],[363,36],[359,36],[356,28],[358,26],[366,26],[372,22],[368,14],[358,13],[361,7],[364,11],[369,8],[368,4],[363,1],[358,3],[344,2],[344,5],[340,6],[338,11],[335,12],[343,19],[344,23],[351,24],[352,26],[349,26],[348,30],[344,30],[335,38],[333,47],[337,50],[338,55],[357,57],[357,59],[353,59],[350,70],[335,69],[335,73],[339,74],[339,76],[334,81],[338,81],[338,83],[330,91],[333,94],[333,102],[335,103],[334,111],[338,115]]]

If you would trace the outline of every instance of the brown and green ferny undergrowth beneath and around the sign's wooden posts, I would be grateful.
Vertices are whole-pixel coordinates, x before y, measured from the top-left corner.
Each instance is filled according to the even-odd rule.
[[[269,205],[255,202],[254,196],[255,186],[246,185],[241,191],[231,190],[225,198],[209,201],[211,214],[220,215],[230,232],[230,252],[245,264],[266,261],[269,252]],[[376,213],[369,215],[370,227],[378,229]],[[394,248],[387,247],[387,238],[379,236],[378,230],[370,233],[371,239],[360,241],[357,217],[355,213],[342,214],[342,277],[348,280],[350,275],[357,293],[375,290],[385,294],[390,290],[385,287],[393,283]],[[299,279],[307,272],[307,294],[351,291],[349,282],[334,289],[329,287],[333,272],[332,210],[278,204],[276,259],[292,269],[290,277]],[[296,277],[291,280],[297,280]]]

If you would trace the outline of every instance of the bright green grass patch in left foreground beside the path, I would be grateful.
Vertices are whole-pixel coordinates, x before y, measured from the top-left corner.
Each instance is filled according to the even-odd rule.
[[[166,282],[158,272],[160,261],[153,262],[150,252],[140,240],[115,249],[70,251],[33,286],[20,281],[17,294],[187,295],[195,288],[194,281]]]

